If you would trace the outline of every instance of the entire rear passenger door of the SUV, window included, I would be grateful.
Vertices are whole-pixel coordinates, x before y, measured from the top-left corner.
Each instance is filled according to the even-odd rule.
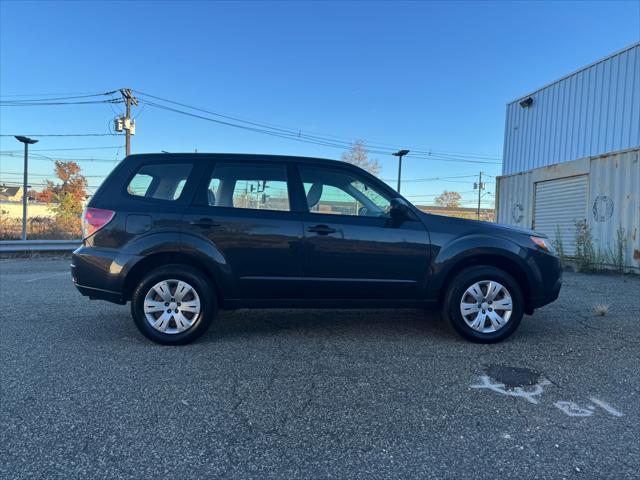
[[[302,221],[289,209],[285,166],[219,163],[202,187],[207,205],[191,206],[184,225],[224,257],[233,298],[297,297]]]

